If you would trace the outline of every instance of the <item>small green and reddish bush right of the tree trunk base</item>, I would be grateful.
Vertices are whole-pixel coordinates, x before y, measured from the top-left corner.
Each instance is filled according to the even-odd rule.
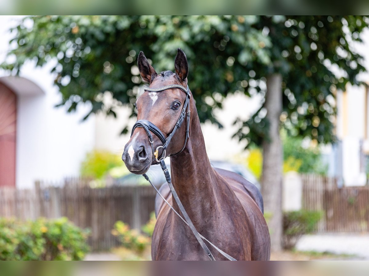
[[[315,211],[292,211],[283,213],[283,248],[292,249],[299,238],[314,231],[321,213]]]

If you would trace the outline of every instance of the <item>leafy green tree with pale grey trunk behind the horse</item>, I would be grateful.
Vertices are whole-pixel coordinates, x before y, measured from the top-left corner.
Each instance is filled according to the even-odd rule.
[[[361,41],[368,23],[362,16],[27,17],[14,30],[18,47],[9,55],[15,61],[1,67],[16,74],[25,60],[42,66],[56,59],[55,84],[70,112],[90,102],[90,113],[115,116],[114,106],[103,103],[106,91],[133,110],[140,92],[135,65],[140,50],[157,71],[173,69],[177,47],[186,52],[201,121],[221,126],[212,110],[222,107],[228,93],[262,93],[260,109],[248,121],[235,120],[235,136],[263,146],[262,192],[272,214],[272,249],[279,250],[280,127],[319,143],[334,141],[335,91],[347,82],[358,84],[356,75],[364,68],[351,44]]]

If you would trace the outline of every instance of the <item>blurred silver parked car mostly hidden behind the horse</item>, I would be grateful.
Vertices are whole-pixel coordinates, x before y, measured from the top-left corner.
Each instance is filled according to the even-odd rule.
[[[170,172],[170,159],[169,158],[165,160],[165,164],[168,167],[168,170]],[[210,164],[214,168],[234,171],[235,173],[244,177],[246,180],[250,181],[256,187],[258,187],[259,190],[261,188],[260,183],[254,176],[254,174],[252,174],[250,170],[248,170],[246,167],[242,166],[241,164],[234,164],[234,163],[230,163],[227,161],[213,161],[213,160],[210,160]],[[166,182],[165,176],[163,174],[163,170],[161,169],[159,165],[151,166],[146,174],[150,178],[152,184],[154,184],[157,187]],[[127,174],[120,178],[116,178],[113,183],[116,185],[147,185],[149,184],[148,181],[146,181],[146,179],[143,176],[137,175],[134,173]]]

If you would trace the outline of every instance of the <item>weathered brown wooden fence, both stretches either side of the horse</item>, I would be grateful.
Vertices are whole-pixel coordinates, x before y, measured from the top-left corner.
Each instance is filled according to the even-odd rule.
[[[335,178],[302,175],[302,207],[323,213],[319,232],[369,231],[369,187],[337,188]],[[118,245],[111,234],[122,220],[141,229],[154,211],[155,190],[151,186],[111,185],[91,188],[90,180],[68,178],[64,183],[35,183],[32,189],[0,188],[0,217],[37,219],[68,217],[89,228],[93,251]]]

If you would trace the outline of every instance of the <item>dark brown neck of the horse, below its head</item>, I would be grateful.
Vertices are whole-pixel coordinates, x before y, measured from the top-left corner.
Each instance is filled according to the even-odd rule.
[[[211,216],[216,216],[219,205],[215,193],[217,175],[206,153],[199,116],[196,110],[193,111],[190,138],[184,150],[170,158],[170,167],[178,197],[194,226],[200,231],[204,223],[209,223],[206,221]],[[179,212],[174,201],[173,207]]]

